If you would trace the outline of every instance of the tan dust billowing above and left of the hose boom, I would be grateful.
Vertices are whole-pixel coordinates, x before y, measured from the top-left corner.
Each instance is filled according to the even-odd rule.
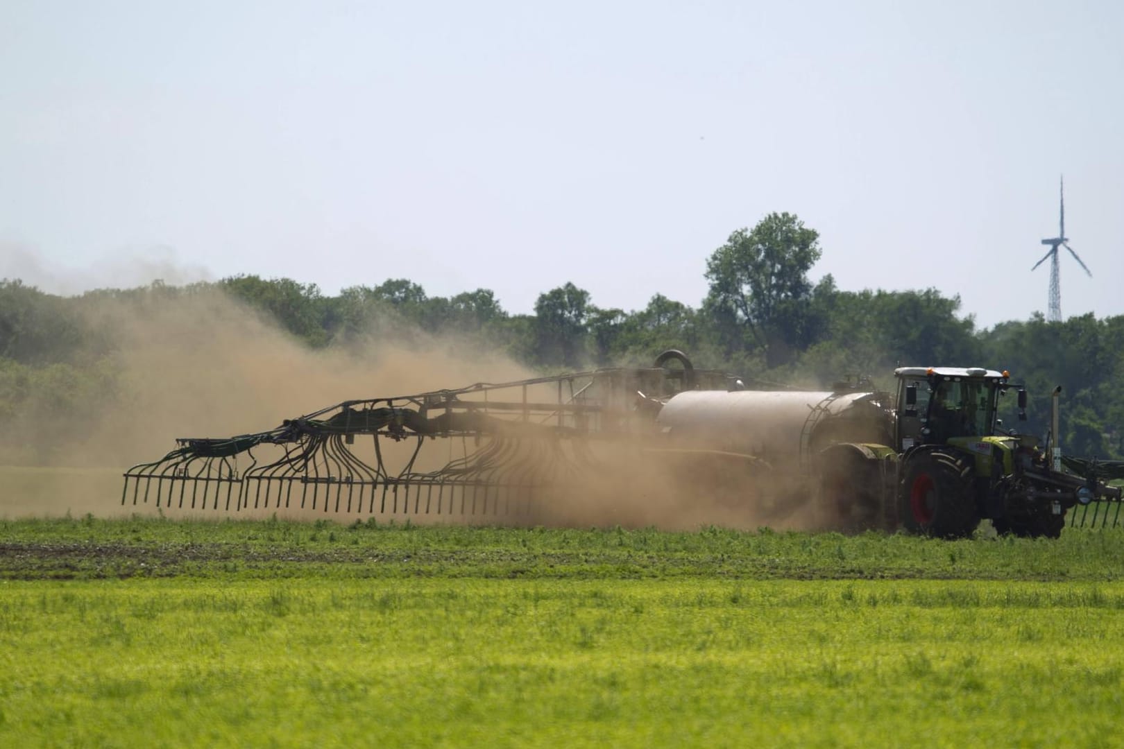
[[[15,447],[0,458],[0,517],[121,514],[121,472],[158,459],[175,438],[264,431],[344,400],[531,376],[392,326],[311,350],[216,290],[103,299],[85,314],[111,338],[106,366],[116,374],[71,429],[57,414],[16,414]],[[13,456],[22,465],[6,466]]]

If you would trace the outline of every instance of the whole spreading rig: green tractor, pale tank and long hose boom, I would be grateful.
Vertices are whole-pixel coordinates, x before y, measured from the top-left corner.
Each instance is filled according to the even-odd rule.
[[[633,492],[941,538],[984,519],[1050,538],[1067,520],[1117,524],[1121,490],[1104,479],[1124,466],[1062,455],[1059,391],[1041,445],[998,419],[1010,394],[1025,419],[1026,391],[1006,372],[894,374],[894,393],[867,381],[756,389],[670,350],[647,368],[345,401],[269,431],[178,439],[125,473],[121,502],[527,524],[590,494],[611,504]]]

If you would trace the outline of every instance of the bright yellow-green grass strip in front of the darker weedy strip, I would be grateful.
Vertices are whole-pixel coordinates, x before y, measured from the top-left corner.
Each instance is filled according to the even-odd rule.
[[[1124,584],[0,583],[2,746],[1109,746]]]

